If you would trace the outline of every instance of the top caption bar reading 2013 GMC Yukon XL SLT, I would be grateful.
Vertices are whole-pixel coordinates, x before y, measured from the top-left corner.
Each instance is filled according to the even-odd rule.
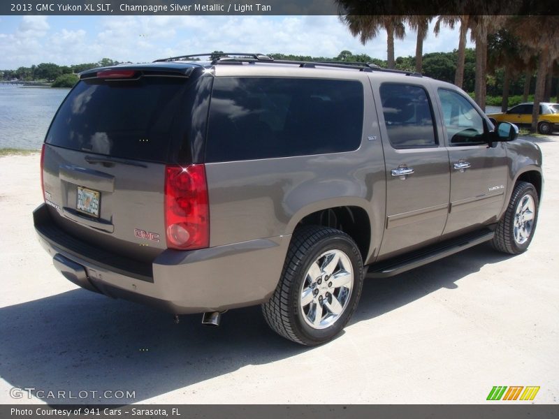
[[[551,0],[8,0],[0,15],[557,15]]]

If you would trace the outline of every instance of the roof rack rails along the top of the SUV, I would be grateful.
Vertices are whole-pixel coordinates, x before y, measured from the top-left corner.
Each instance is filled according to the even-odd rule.
[[[189,58],[194,57],[214,57],[211,61],[212,65],[216,64],[242,64],[249,63],[254,64],[256,62],[263,63],[273,63],[273,64],[293,64],[300,67],[315,68],[317,66],[321,67],[333,67],[333,68],[353,68],[359,71],[365,71],[367,73],[372,71],[382,71],[386,73],[398,73],[411,75],[414,77],[423,77],[421,73],[416,73],[415,71],[405,71],[405,70],[394,70],[391,68],[382,68],[373,63],[363,63],[356,61],[295,61],[288,59],[273,59],[265,54],[258,54],[252,52],[208,52],[207,54],[189,54],[180,55],[177,57],[161,58],[156,59],[154,62],[160,61],[188,61]]]

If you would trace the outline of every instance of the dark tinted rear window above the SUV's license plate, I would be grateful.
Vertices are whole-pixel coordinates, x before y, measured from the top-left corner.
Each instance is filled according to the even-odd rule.
[[[82,152],[165,163],[171,145],[181,141],[186,129],[179,120],[189,117],[191,106],[184,92],[190,86],[191,80],[175,77],[82,80],[62,103],[45,141]]]

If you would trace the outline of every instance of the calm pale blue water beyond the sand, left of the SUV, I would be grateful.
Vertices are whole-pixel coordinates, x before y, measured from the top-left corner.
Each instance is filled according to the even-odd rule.
[[[69,90],[0,84],[0,149],[41,149]]]

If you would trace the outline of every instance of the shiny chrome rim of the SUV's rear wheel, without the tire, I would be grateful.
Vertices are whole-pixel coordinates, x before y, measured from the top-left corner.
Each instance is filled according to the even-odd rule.
[[[307,325],[324,329],[342,315],[351,297],[354,272],[341,250],[322,253],[310,265],[300,291],[300,314]]]

